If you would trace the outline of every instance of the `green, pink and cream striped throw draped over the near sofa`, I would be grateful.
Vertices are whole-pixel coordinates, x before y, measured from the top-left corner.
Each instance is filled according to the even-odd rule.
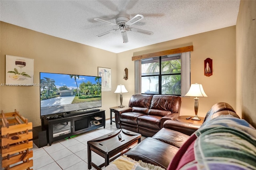
[[[180,169],[256,170],[256,130],[245,120],[222,115],[195,135],[195,159]]]

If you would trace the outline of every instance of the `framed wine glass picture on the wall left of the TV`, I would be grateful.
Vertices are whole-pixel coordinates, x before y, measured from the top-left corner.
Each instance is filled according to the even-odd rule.
[[[34,59],[6,55],[6,85],[32,86]]]

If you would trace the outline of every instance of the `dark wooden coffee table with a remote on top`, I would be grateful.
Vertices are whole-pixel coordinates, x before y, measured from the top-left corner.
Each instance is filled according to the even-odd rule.
[[[118,138],[118,134],[122,135],[122,139]],[[87,142],[88,147],[88,169],[92,166],[100,170],[103,166],[108,166],[109,162],[118,158],[122,154],[130,150],[130,146],[139,143],[141,134],[126,129],[119,129],[109,134],[100,136]],[[92,162],[92,151],[105,158],[105,163],[97,166]]]

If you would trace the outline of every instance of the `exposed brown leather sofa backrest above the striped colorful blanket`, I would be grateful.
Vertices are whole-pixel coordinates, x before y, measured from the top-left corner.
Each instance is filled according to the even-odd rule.
[[[240,119],[236,114],[236,111],[228,103],[220,102],[212,106],[212,108],[206,113],[204,122],[210,121],[211,119],[218,117],[220,115],[232,115]],[[204,123],[205,124],[205,123]]]

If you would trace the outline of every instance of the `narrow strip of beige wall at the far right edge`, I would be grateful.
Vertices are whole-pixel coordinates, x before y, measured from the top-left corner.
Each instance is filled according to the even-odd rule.
[[[256,127],[256,1],[242,0],[236,22],[236,105]]]

